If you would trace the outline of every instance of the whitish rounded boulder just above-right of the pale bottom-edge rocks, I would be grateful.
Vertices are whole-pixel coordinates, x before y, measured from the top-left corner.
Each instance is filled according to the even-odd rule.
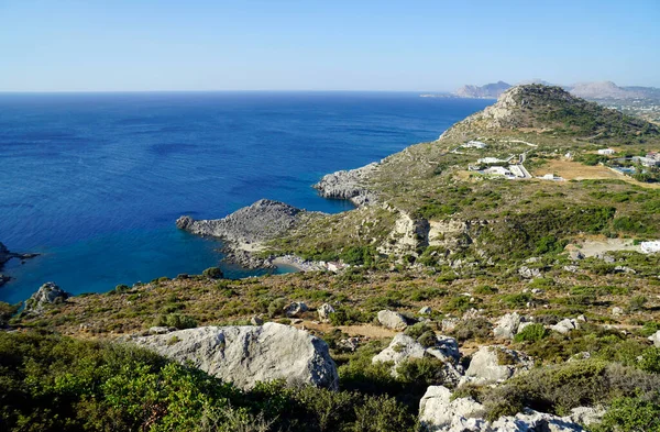
[[[472,355],[465,378],[480,385],[501,383],[531,366],[534,362],[522,353],[502,346],[482,346]]]

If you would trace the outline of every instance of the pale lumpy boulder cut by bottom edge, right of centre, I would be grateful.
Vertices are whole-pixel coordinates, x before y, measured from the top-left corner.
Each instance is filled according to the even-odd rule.
[[[428,431],[485,430],[484,406],[471,398],[451,400],[443,386],[430,386],[419,401],[419,422]]]

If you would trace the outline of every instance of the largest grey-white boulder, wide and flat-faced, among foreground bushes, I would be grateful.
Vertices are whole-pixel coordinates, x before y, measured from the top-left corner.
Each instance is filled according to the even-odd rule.
[[[326,342],[289,325],[204,326],[136,337],[133,343],[182,364],[190,362],[242,389],[275,379],[289,386],[338,388]]]

